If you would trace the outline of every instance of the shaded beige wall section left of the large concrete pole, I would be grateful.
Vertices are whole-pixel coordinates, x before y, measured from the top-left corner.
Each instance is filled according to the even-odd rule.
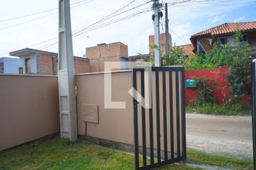
[[[0,151],[60,131],[56,76],[0,75]]]

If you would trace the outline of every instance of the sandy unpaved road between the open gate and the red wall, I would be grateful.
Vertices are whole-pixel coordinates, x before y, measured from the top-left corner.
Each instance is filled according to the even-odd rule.
[[[251,116],[186,114],[187,146],[197,150],[253,157]]]

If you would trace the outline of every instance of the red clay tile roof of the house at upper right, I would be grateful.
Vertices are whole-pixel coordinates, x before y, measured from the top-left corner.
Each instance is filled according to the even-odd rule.
[[[207,29],[205,31],[197,32],[191,37],[203,36],[203,35],[221,35],[225,33],[232,33],[237,31],[237,25],[241,31],[248,31],[251,29],[256,29],[256,22],[243,22],[243,23],[224,23],[216,27]]]

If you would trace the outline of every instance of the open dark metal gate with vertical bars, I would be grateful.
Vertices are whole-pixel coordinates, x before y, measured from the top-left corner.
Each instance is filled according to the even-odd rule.
[[[136,68],[133,67],[133,71],[132,71],[132,79],[133,79],[133,88],[135,90],[137,90],[137,72],[141,72],[141,88],[142,88],[142,97],[144,97],[144,70],[141,67],[140,68]],[[164,161],[161,160],[161,154],[160,154],[160,111],[159,111],[159,90],[158,92],[156,92],[156,112],[158,112],[159,114],[156,113],[156,126],[157,126],[157,130],[156,130],[156,134],[157,134],[157,157],[158,157],[158,162],[154,163],[154,139],[152,138],[152,108],[150,109],[149,113],[150,113],[150,165],[147,165],[146,163],[146,129],[145,129],[145,109],[142,107],[142,152],[143,152],[143,167],[139,167],[139,144],[138,144],[138,101],[135,100],[135,98],[137,98],[137,94],[134,94],[133,97],[133,116],[134,116],[134,167],[135,169],[152,169],[152,168],[159,168],[162,167],[163,165],[168,165],[168,164],[172,164],[172,163],[176,163],[176,162],[180,162],[182,160],[187,159],[187,146],[186,146],[186,126],[185,126],[185,70],[184,67],[182,66],[177,66],[177,67],[152,67],[151,71],[155,71],[156,75],[155,76],[155,82],[156,84],[156,88],[159,89],[159,72],[163,73],[163,76],[165,76],[166,71],[169,72],[169,79],[172,78],[172,72],[175,72],[175,78],[178,77],[179,72],[181,73],[181,77],[180,77],[180,83],[181,83],[181,117],[178,116],[178,118],[176,118],[176,121],[179,121],[179,118],[181,118],[181,131],[179,131],[180,129],[178,128],[179,126],[177,126],[177,158],[174,158],[174,144],[171,144],[171,159],[168,159],[167,156],[167,136],[164,137]],[[143,73],[143,74],[142,74]],[[169,87],[170,89],[172,88],[172,83],[170,83],[171,87]],[[151,86],[152,87],[152,86]],[[179,87],[179,80],[176,80],[176,87]],[[166,91],[166,79],[163,79],[163,88],[165,88]],[[172,94],[172,91],[170,90],[170,95]],[[177,94],[176,95],[176,100],[179,101],[179,88],[177,88]],[[172,96],[172,95],[171,95]],[[170,97],[171,98],[171,97]],[[152,99],[152,96],[151,96]],[[172,99],[170,99],[170,103],[172,103]],[[151,102],[152,104],[152,102]],[[173,104],[172,104],[173,105]],[[179,102],[176,102],[176,106],[179,105]],[[171,104],[170,104],[171,106]],[[170,108],[171,109],[171,108]],[[179,112],[179,107],[177,107],[177,112]],[[170,112],[171,113],[171,112]],[[166,117],[166,93],[163,93],[163,117]],[[144,119],[144,120],[143,120]],[[164,134],[167,133],[166,129],[166,120],[163,122],[163,126],[164,126]],[[170,122],[171,124],[171,122]],[[180,124],[179,124],[180,125]],[[173,128],[173,125],[172,125]],[[173,131],[172,131],[173,133]],[[180,134],[182,135],[182,156],[180,156]],[[172,134],[173,135],[173,134]],[[172,140],[174,139],[173,136],[171,136]],[[179,144],[178,144],[179,143]]]

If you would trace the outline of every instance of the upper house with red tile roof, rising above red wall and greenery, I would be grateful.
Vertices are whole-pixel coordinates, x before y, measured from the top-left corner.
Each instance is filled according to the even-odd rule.
[[[240,29],[243,39],[240,44],[247,44],[253,51],[252,57],[256,57],[256,22],[224,23],[191,36],[193,52],[208,52],[213,49],[214,43],[222,46],[236,46],[234,34]]]

